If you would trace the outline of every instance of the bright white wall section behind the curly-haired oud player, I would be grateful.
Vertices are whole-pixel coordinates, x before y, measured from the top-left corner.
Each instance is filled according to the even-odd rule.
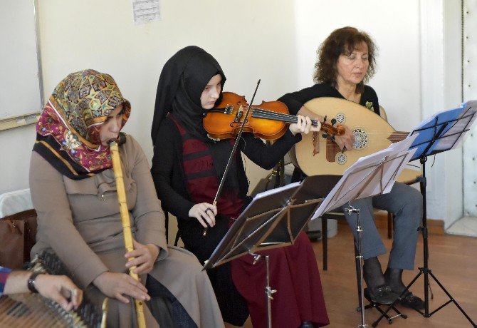
[[[354,26],[379,48],[377,73],[369,81],[397,130],[410,130],[421,118],[419,81],[419,2],[297,1],[298,86],[312,83],[316,50],[331,31]]]

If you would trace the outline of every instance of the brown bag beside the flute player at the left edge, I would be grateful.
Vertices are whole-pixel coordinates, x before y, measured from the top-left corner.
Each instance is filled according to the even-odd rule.
[[[35,245],[36,211],[26,210],[0,220],[0,265],[21,269]]]

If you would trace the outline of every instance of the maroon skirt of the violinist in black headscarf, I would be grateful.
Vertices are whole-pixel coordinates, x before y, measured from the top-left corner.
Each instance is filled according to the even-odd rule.
[[[305,232],[294,245],[265,250],[270,255],[270,286],[276,289],[271,300],[273,327],[298,327],[302,322],[313,322],[315,327],[330,323],[328,319],[320,272],[315,253]],[[254,328],[266,327],[266,264],[244,255],[231,261],[232,279],[239,293],[246,299]]]

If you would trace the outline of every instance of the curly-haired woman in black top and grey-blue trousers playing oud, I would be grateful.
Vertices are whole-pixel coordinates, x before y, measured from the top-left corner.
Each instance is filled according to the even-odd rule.
[[[315,64],[317,84],[278,99],[288,106],[291,113],[308,113],[304,104],[310,99],[335,97],[359,103],[377,115],[382,114],[376,92],[365,85],[374,75],[376,56],[376,46],[368,34],[353,27],[337,29],[320,45],[318,56]],[[414,268],[417,227],[422,217],[421,193],[409,185],[394,183],[391,193],[356,200],[352,206],[360,209],[367,292],[375,302],[390,304],[404,291],[402,271]],[[373,207],[395,215],[394,242],[384,274],[377,257],[387,251],[374,225]],[[347,212],[345,216],[356,235],[355,217]],[[400,302],[407,307],[424,309],[424,302],[410,292]]]

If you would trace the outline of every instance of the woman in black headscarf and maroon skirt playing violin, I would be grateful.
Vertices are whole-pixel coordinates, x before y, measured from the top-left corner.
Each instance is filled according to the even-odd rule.
[[[224,191],[216,206],[212,204],[234,140],[211,140],[202,120],[220,101],[225,80],[209,53],[196,46],[183,48],[162,69],[152,123],[157,195],[164,209],[177,217],[185,247],[202,263],[250,201],[242,158],[236,153]],[[299,116],[272,146],[244,133],[239,150],[270,169],[301,140],[300,133],[319,128],[311,128],[310,118]],[[328,324],[318,266],[306,235],[302,233],[293,246],[261,253],[271,255],[271,286],[278,289],[273,295],[273,326]],[[266,267],[263,261],[252,262],[251,256],[243,256],[208,273],[225,322],[243,325],[249,312],[253,327],[266,327]]]

